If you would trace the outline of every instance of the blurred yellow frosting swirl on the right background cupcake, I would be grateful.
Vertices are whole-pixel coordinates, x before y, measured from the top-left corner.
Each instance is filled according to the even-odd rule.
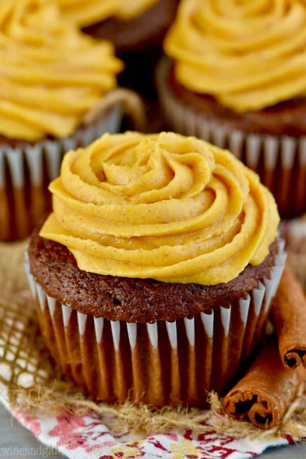
[[[306,94],[303,0],[184,0],[164,46],[179,83],[237,112]]]

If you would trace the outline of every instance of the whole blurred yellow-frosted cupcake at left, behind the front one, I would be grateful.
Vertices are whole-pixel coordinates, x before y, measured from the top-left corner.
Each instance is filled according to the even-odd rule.
[[[119,106],[84,122],[116,86],[122,63],[44,0],[0,6],[0,240],[28,236],[50,209],[47,185],[62,156],[106,131],[117,132]],[[91,117],[92,118],[92,117]]]

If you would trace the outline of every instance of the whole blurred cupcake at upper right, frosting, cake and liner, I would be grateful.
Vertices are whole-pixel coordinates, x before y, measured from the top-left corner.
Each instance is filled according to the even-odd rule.
[[[306,211],[306,5],[186,0],[158,88],[172,129],[229,148],[284,218]]]

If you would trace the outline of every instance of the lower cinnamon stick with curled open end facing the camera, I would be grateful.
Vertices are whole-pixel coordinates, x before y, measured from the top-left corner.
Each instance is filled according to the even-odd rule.
[[[224,397],[224,411],[261,429],[271,428],[282,419],[304,378],[303,366],[295,370],[283,366],[277,344],[271,339],[246,375]]]

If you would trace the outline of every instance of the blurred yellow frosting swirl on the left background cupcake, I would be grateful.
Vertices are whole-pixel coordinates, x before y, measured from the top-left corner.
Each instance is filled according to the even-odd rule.
[[[0,61],[0,134],[27,141],[72,134],[122,69],[46,0],[1,2]]]

